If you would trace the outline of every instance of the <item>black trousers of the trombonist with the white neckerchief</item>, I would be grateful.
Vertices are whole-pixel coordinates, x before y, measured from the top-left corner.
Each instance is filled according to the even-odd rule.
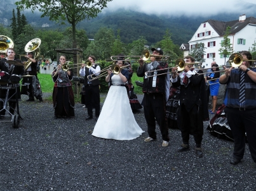
[[[182,135],[182,141],[189,143],[189,135],[194,136],[196,145],[201,145],[203,139],[203,114],[198,105],[194,105],[187,111],[184,104],[179,106],[177,121]]]

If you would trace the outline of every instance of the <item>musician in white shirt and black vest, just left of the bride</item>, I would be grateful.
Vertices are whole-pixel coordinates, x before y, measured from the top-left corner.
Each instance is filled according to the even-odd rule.
[[[82,66],[80,70],[80,75],[84,77],[85,106],[88,112],[88,117],[86,120],[91,120],[93,118],[92,106],[95,106],[95,118],[97,121],[98,116],[100,116],[100,81],[98,78],[90,81],[87,77],[91,77],[91,75],[92,77],[100,75],[100,66],[95,64],[95,56],[89,56],[88,60],[91,63],[91,67],[89,68]]]

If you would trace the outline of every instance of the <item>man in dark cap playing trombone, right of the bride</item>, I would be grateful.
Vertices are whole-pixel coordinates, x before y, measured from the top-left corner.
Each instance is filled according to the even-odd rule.
[[[138,77],[144,77],[144,83],[142,91],[144,92],[144,115],[145,120],[147,121],[147,132],[149,137],[145,139],[145,142],[151,142],[156,140],[156,121],[158,122],[162,138],[163,138],[163,147],[168,146],[169,137],[168,137],[168,125],[166,120],[166,101],[169,97],[170,90],[170,75],[167,73],[168,64],[161,61],[163,56],[162,49],[151,49],[153,51],[153,56],[151,55],[151,63],[145,64],[142,59],[139,61],[139,68],[137,70]],[[158,71],[156,71],[158,70]],[[150,73],[160,74],[165,73],[164,75],[158,75],[154,77],[147,77],[145,72],[152,71]]]

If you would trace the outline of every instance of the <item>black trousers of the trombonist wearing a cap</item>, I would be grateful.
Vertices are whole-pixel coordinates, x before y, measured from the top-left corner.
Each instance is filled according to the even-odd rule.
[[[156,121],[158,121],[163,140],[169,141],[165,95],[159,93],[144,94],[143,107],[149,137],[156,139]]]

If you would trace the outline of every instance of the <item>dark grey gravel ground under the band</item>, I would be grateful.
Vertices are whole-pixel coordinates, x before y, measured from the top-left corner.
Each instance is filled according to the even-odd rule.
[[[96,121],[85,121],[81,104],[75,118],[53,120],[51,103],[22,99],[20,127],[0,121],[0,190],[256,190],[248,145],[243,161],[229,164],[233,143],[210,135],[208,123],[198,158],[192,137],[190,151],[176,152],[179,130],[169,131],[168,147],[161,147],[158,127],[158,140],[145,143],[143,109],[135,113],[142,136],[105,140],[91,135]]]

